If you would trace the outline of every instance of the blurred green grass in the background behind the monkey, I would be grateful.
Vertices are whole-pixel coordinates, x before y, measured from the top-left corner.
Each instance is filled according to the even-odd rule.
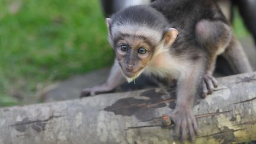
[[[234,25],[248,35],[238,12]],[[0,1],[0,107],[39,103],[43,88],[113,57],[100,1]]]

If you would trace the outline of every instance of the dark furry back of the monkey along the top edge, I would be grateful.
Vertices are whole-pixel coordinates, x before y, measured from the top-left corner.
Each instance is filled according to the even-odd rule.
[[[158,0],[151,7],[161,12],[171,25],[179,28],[193,29],[197,21],[203,19],[228,23],[213,0]]]

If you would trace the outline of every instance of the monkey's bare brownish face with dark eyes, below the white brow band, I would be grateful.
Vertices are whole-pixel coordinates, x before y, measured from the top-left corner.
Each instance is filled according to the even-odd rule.
[[[145,37],[124,36],[114,44],[117,60],[127,81],[137,78],[153,55],[152,43]]]

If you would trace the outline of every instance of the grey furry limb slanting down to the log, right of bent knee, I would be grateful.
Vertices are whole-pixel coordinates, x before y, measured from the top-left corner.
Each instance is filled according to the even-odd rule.
[[[226,48],[223,56],[228,61],[233,72],[245,73],[252,72],[251,64],[249,63],[247,55],[245,55],[244,49],[242,49],[241,43],[232,36],[232,40],[229,46]]]

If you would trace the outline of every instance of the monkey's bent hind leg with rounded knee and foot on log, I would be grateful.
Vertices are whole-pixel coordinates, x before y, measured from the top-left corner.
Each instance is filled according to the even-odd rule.
[[[215,70],[216,58],[225,51],[229,41],[231,41],[232,31],[228,24],[219,20],[201,20],[196,24],[197,40],[208,53],[208,66],[206,74],[203,76],[202,97],[212,94],[217,87],[217,81],[212,76]]]

